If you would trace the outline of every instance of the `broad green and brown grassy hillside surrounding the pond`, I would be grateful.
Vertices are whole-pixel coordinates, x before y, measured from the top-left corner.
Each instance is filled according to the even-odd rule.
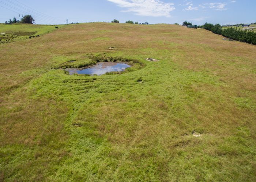
[[[256,180],[256,46],[176,25],[88,23],[0,49],[0,181]],[[144,66],[54,69],[91,56]]]

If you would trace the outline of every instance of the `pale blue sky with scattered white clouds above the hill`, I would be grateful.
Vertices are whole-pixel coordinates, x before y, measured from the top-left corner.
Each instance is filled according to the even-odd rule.
[[[120,20],[201,25],[256,22],[256,0],[0,0],[0,22],[31,14],[36,24]]]

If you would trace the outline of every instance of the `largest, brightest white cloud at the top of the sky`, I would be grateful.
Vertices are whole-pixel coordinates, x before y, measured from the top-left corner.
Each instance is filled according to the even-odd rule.
[[[166,16],[175,8],[173,3],[163,3],[160,0],[108,0],[120,7],[127,8],[122,12],[133,12],[140,16]]]

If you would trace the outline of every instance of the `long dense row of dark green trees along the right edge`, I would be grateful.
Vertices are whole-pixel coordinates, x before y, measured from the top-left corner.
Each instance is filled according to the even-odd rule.
[[[220,24],[213,25],[211,23],[205,23],[199,28],[207,29],[213,33],[223,35],[227,38],[250,43],[256,45],[256,32],[248,31],[248,30],[240,30],[234,27],[222,29]]]

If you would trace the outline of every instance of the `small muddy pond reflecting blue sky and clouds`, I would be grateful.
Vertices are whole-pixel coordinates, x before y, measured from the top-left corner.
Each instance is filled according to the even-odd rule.
[[[126,63],[116,63],[116,62],[101,62],[94,66],[86,68],[68,68],[65,69],[69,72],[69,75],[73,74],[87,74],[87,75],[104,75],[107,72],[113,71],[124,71],[126,68],[131,67]]]

